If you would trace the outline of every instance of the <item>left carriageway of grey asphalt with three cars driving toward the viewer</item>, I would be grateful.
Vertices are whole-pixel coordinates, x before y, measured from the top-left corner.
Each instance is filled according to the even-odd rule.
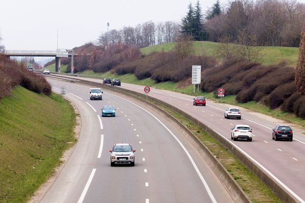
[[[48,80],[81,115],[75,149],[40,202],[233,202],[196,149],[154,110],[115,92],[90,100],[89,88]],[[101,117],[113,105],[115,117]],[[114,143],[131,143],[135,166],[110,166]]]

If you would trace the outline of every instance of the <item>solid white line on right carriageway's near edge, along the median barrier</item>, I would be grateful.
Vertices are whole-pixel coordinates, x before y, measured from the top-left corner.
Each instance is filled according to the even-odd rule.
[[[215,131],[215,130],[214,130]],[[271,176],[273,179],[275,179],[280,185],[282,185],[286,190],[288,190],[288,192],[290,192],[290,194],[292,194],[295,198],[297,198],[301,203],[305,203],[305,201],[303,199],[301,199],[301,197],[299,197],[297,194],[295,194],[287,185],[285,185],[282,181],[280,181],[275,175],[273,175],[271,172],[269,172],[267,170],[267,168],[265,168],[262,164],[260,164],[257,160],[255,160],[254,158],[252,158],[249,154],[247,154],[245,151],[243,151],[242,149],[240,149],[237,145],[235,145],[233,142],[229,141],[229,139],[227,139],[225,136],[223,136],[221,133],[215,131],[216,133],[218,133],[221,137],[223,137],[224,139],[226,139],[228,142],[230,142],[236,149],[240,150],[243,154],[246,155],[246,157],[248,157],[249,159],[251,159],[253,162],[255,162],[257,165],[259,165],[259,167],[262,168],[262,170],[264,170],[269,176]]]

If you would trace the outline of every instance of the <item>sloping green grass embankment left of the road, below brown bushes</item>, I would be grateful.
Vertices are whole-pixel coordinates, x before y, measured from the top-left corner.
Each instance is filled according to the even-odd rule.
[[[0,100],[0,202],[26,202],[75,143],[67,100],[17,86]]]

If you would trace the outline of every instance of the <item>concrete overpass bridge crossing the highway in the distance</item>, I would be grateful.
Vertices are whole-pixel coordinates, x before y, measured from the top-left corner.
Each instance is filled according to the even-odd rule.
[[[73,57],[77,56],[73,50],[69,49],[58,49],[54,51],[48,50],[6,50],[4,55],[7,57],[16,56],[42,56],[42,57],[55,57],[55,72],[60,72],[60,58],[72,57],[71,64],[73,66]]]

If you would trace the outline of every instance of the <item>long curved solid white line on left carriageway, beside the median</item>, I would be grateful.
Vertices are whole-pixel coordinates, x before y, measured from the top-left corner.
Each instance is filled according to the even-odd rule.
[[[110,94],[110,93],[108,93],[108,94]],[[116,97],[121,98],[121,99],[123,99],[123,100],[126,100],[126,101],[128,101],[129,103],[131,103],[131,104],[133,104],[133,105],[139,107],[139,108],[142,109],[143,111],[145,111],[145,112],[147,112],[148,114],[150,114],[151,116],[153,116],[161,125],[163,125],[163,127],[172,135],[172,137],[178,142],[178,144],[181,146],[181,148],[182,148],[182,149],[185,151],[185,153],[187,154],[187,156],[188,156],[188,158],[190,159],[190,161],[191,161],[193,167],[195,168],[195,171],[196,171],[197,175],[199,176],[201,182],[203,183],[203,185],[204,185],[204,187],[205,187],[205,190],[206,190],[207,194],[209,195],[211,201],[212,201],[213,203],[217,203],[217,201],[216,201],[214,195],[212,194],[210,188],[208,187],[206,181],[204,180],[202,174],[200,173],[199,168],[197,167],[197,165],[196,165],[195,161],[193,160],[191,154],[190,154],[189,151],[185,148],[185,146],[180,142],[180,140],[175,136],[175,134],[174,134],[174,133],[173,133],[164,123],[162,123],[162,121],[160,121],[155,115],[151,114],[150,112],[148,112],[148,111],[145,110],[144,108],[140,107],[139,105],[136,105],[135,103],[132,103],[132,101],[129,101],[129,100],[125,99],[125,98],[119,97],[119,96],[114,95],[114,94],[110,94],[110,95],[113,95],[113,96],[116,96]]]

